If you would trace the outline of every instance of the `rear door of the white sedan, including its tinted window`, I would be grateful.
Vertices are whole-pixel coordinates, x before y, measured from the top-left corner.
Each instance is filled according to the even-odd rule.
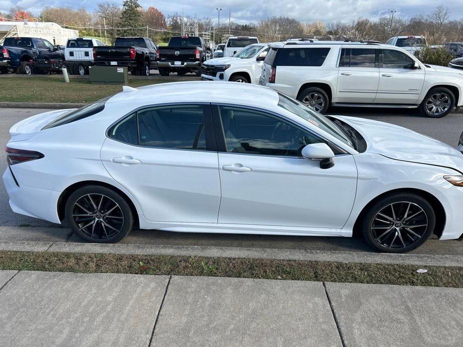
[[[220,180],[210,104],[141,108],[107,135],[103,164],[148,220],[217,223]]]

